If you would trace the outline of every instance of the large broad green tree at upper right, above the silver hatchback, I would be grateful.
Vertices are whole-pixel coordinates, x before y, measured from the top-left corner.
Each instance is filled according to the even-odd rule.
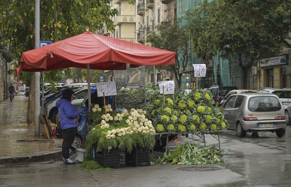
[[[197,56],[229,59],[238,54],[243,71],[243,87],[247,72],[258,60],[275,55],[290,46],[290,0],[204,0],[201,7],[187,12],[187,25]],[[242,62],[246,55],[247,63]]]

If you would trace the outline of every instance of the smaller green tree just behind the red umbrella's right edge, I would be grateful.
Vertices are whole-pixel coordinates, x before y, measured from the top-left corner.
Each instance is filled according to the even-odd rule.
[[[178,89],[181,87],[181,77],[183,72],[189,66],[190,43],[189,34],[185,25],[181,26],[178,19],[174,19],[174,23],[170,26],[167,24],[159,24],[155,27],[157,32],[152,32],[146,38],[146,42],[151,43],[153,47],[176,52],[176,63],[169,67],[174,72]],[[164,67],[157,67],[164,68]]]

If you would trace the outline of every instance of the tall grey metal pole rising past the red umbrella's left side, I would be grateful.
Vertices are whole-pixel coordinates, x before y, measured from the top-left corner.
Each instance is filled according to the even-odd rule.
[[[35,48],[39,47],[39,0],[35,0]],[[39,136],[39,114],[40,114],[40,96],[39,96],[39,72],[34,72],[34,126],[35,136]]]

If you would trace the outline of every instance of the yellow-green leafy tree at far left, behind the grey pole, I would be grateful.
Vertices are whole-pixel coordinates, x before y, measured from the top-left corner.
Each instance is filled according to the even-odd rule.
[[[112,0],[40,0],[40,40],[57,42],[81,34],[86,29],[95,31],[104,24],[109,31],[115,28],[111,16],[118,10],[111,9]],[[34,48],[35,44],[35,1],[0,0],[0,33],[2,46],[6,46],[13,59],[19,64],[21,53]],[[16,65],[17,66],[17,65]],[[66,70],[45,72],[45,82],[56,83]],[[31,81],[32,73],[23,72],[25,84]],[[31,79],[31,80],[29,80]],[[53,84],[51,84],[53,85]],[[28,123],[34,116],[34,97],[29,99]],[[32,111],[33,110],[33,111]]]

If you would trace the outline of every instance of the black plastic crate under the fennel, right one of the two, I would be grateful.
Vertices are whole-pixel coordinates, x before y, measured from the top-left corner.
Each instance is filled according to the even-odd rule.
[[[132,152],[125,153],[125,164],[130,166],[150,166],[150,149],[133,147]]]

